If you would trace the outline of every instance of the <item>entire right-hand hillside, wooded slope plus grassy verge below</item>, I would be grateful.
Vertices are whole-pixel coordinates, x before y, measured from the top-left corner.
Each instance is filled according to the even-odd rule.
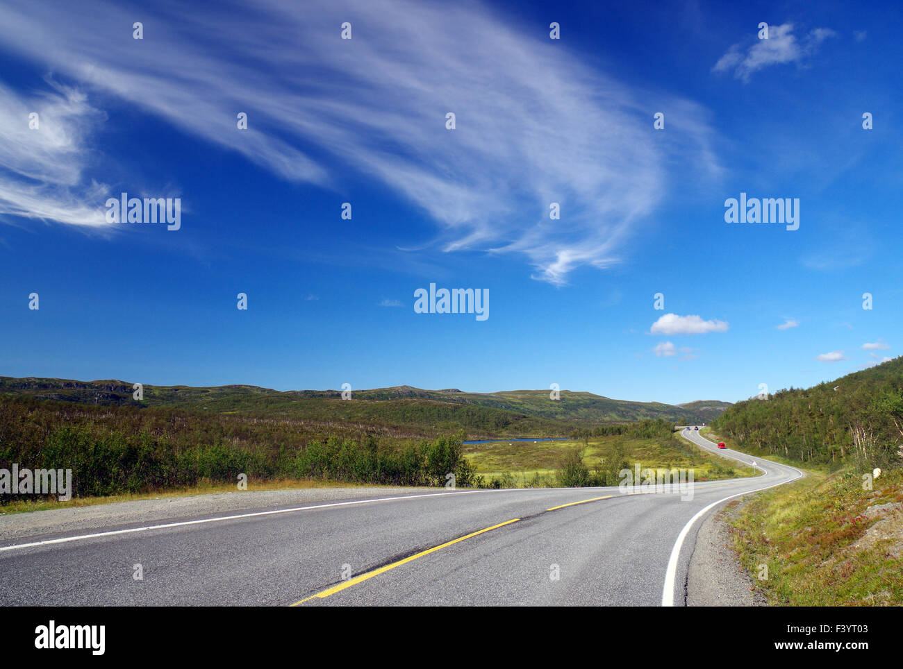
[[[731,448],[807,470],[726,514],[768,603],[903,604],[903,358],[739,402],[714,428]]]

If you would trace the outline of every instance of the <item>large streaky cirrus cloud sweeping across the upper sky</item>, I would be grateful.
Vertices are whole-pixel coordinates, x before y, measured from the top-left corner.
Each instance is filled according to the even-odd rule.
[[[666,194],[670,161],[720,170],[703,107],[657,96],[677,132],[653,141],[642,91],[481,5],[221,6],[51,0],[38,13],[10,0],[0,40],[282,179],[377,179],[431,217],[443,251],[520,253],[553,284],[621,259]]]

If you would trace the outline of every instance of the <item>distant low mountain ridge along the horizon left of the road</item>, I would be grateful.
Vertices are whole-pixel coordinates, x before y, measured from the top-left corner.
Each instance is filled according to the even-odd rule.
[[[456,414],[478,422],[501,426],[520,423],[542,427],[543,434],[574,424],[632,422],[663,418],[675,423],[707,423],[719,416],[730,402],[700,400],[683,405],[610,399],[590,392],[561,390],[551,399],[549,390],[503,390],[492,393],[460,389],[429,390],[414,386],[352,390],[351,401],[341,399],[340,390],[274,390],[257,386],[152,386],[144,385],[144,399],[133,399],[133,384],[122,380],[79,381],[27,377],[0,377],[0,393],[97,405],[169,407],[224,413],[264,413],[326,419],[339,413],[345,419],[367,422],[387,418],[406,423],[424,417],[455,422]],[[418,416],[418,414],[420,416]],[[409,417],[407,416],[409,415]],[[524,421],[530,418],[532,420]],[[472,422],[472,421],[471,421]]]

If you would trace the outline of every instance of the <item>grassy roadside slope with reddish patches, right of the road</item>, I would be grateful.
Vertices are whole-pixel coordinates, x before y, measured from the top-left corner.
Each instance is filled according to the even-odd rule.
[[[733,547],[759,591],[774,606],[903,604],[903,469],[882,472],[872,490],[852,470],[805,472],[728,505],[740,505],[728,520]]]

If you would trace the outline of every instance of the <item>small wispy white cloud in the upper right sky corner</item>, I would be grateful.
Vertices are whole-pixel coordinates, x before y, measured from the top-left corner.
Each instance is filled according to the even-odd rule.
[[[767,40],[759,40],[757,35],[745,50],[740,43],[732,45],[712,67],[712,72],[733,70],[735,78],[747,82],[759,69],[782,63],[801,63],[819,44],[837,34],[830,28],[815,28],[797,41],[793,31],[793,23],[768,26]]]

